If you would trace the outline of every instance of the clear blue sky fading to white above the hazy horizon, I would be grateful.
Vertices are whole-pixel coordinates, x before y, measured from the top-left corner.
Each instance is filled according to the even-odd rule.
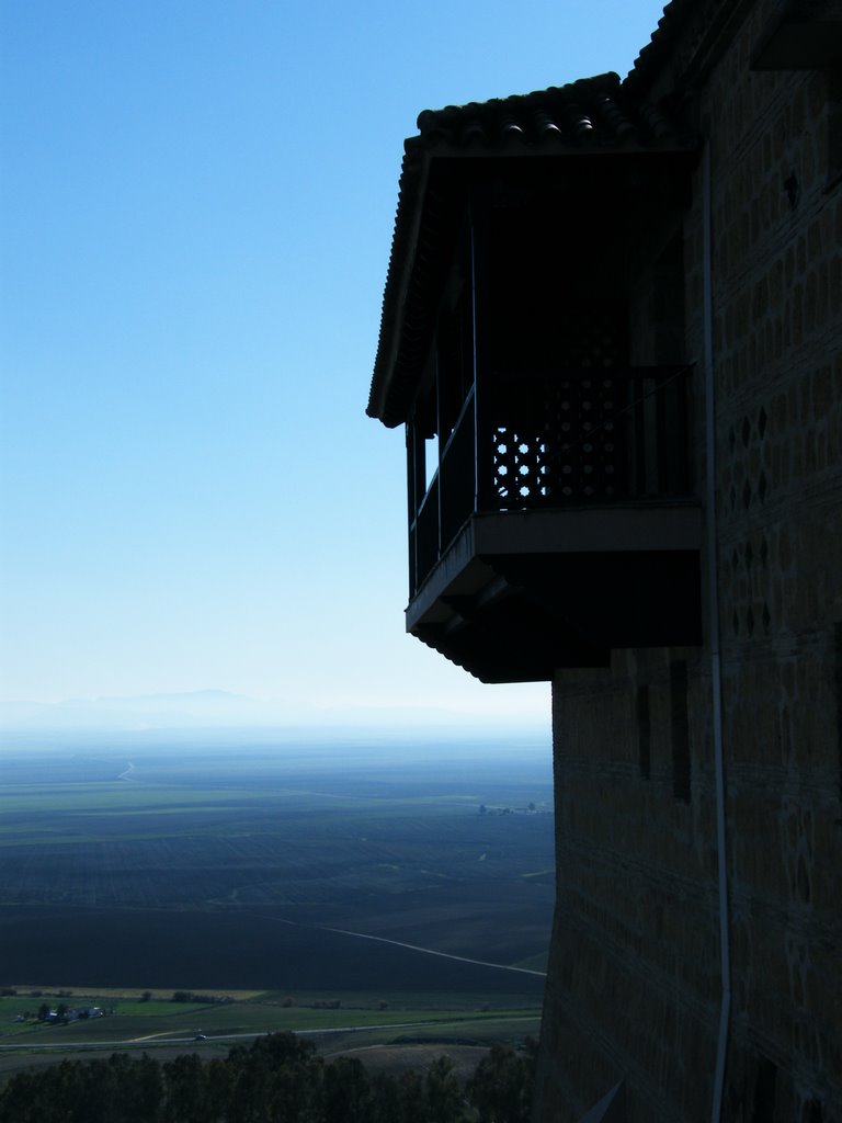
[[[549,721],[403,630],[364,416],[425,108],[624,74],[658,2],[0,0],[0,697]]]

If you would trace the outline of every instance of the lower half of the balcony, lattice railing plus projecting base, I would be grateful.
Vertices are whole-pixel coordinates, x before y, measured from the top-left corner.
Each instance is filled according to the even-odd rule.
[[[495,372],[410,497],[406,627],[484,682],[697,643],[689,368]],[[421,437],[409,427],[411,477]]]

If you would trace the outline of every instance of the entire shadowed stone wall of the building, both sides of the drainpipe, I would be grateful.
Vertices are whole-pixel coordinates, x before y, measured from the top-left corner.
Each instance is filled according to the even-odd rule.
[[[719,37],[697,21],[658,85],[695,75],[712,170],[733,1001],[723,1117],[833,1123],[842,1119],[842,124],[827,73],[750,71],[777,8],[734,4],[741,21],[721,22]],[[702,175],[699,164],[680,235],[684,355],[669,359],[696,363],[699,500]],[[639,362],[679,349],[674,309],[668,330],[646,319],[662,289],[655,273],[635,289]],[[608,670],[556,676],[558,905],[541,1120],[579,1119],[621,1078],[634,1123],[711,1115],[721,1002],[711,668],[708,642],[615,652]]]

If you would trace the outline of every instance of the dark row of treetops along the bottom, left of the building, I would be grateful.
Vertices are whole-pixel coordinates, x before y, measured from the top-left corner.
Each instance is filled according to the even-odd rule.
[[[441,1057],[422,1074],[370,1076],[356,1059],[323,1061],[292,1033],[203,1061],[144,1053],[62,1061],[13,1076],[0,1120],[16,1123],[528,1123],[536,1047],[494,1046],[463,1087]]]

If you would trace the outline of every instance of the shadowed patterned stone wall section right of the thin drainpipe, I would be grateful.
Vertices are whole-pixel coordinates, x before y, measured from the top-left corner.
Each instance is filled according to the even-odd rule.
[[[725,1117],[842,1112],[842,193],[826,73],[706,95],[733,961]],[[734,95],[734,92],[738,95]],[[830,186],[830,190],[829,190]]]

